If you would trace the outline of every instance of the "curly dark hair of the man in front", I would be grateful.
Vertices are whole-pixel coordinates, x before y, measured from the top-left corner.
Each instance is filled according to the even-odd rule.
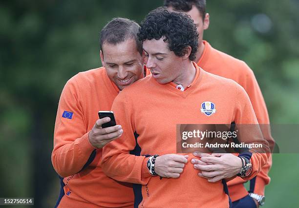
[[[141,41],[164,38],[169,50],[177,56],[186,54],[191,46],[189,59],[195,60],[198,48],[198,32],[193,20],[184,13],[169,12],[167,7],[159,7],[149,12],[141,22],[138,38]]]

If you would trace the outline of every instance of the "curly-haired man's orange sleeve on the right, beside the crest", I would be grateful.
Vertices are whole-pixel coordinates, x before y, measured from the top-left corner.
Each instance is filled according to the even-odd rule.
[[[263,139],[250,99],[245,90],[239,85],[236,85],[235,124],[238,130],[238,139],[241,143],[254,143],[262,146],[241,153],[251,160],[253,171],[248,177],[243,178],[250,180],[267,163],[270,150],[268,142]]]

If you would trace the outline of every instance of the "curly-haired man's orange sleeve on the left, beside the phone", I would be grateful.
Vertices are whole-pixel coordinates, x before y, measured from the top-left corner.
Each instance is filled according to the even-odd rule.
[[[146,157],[129,153],[136,146],[131,109],[126,91],[122,91],[114,100],[112,111],[124,133],[119,139],[104,146],[101,166],[108,177],[117,181],[146,185],[150,179]]]

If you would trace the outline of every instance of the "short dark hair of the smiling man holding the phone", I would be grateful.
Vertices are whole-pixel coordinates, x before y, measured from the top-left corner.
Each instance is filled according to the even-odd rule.
[[[142,55],[142,42],[139,41],[137,33],[139,24],[127,18],[113,18],[109,21],[101,31],[100,48],[103,50],[103,44],[117,44],[129,39],[136,41],[137,51]]]

